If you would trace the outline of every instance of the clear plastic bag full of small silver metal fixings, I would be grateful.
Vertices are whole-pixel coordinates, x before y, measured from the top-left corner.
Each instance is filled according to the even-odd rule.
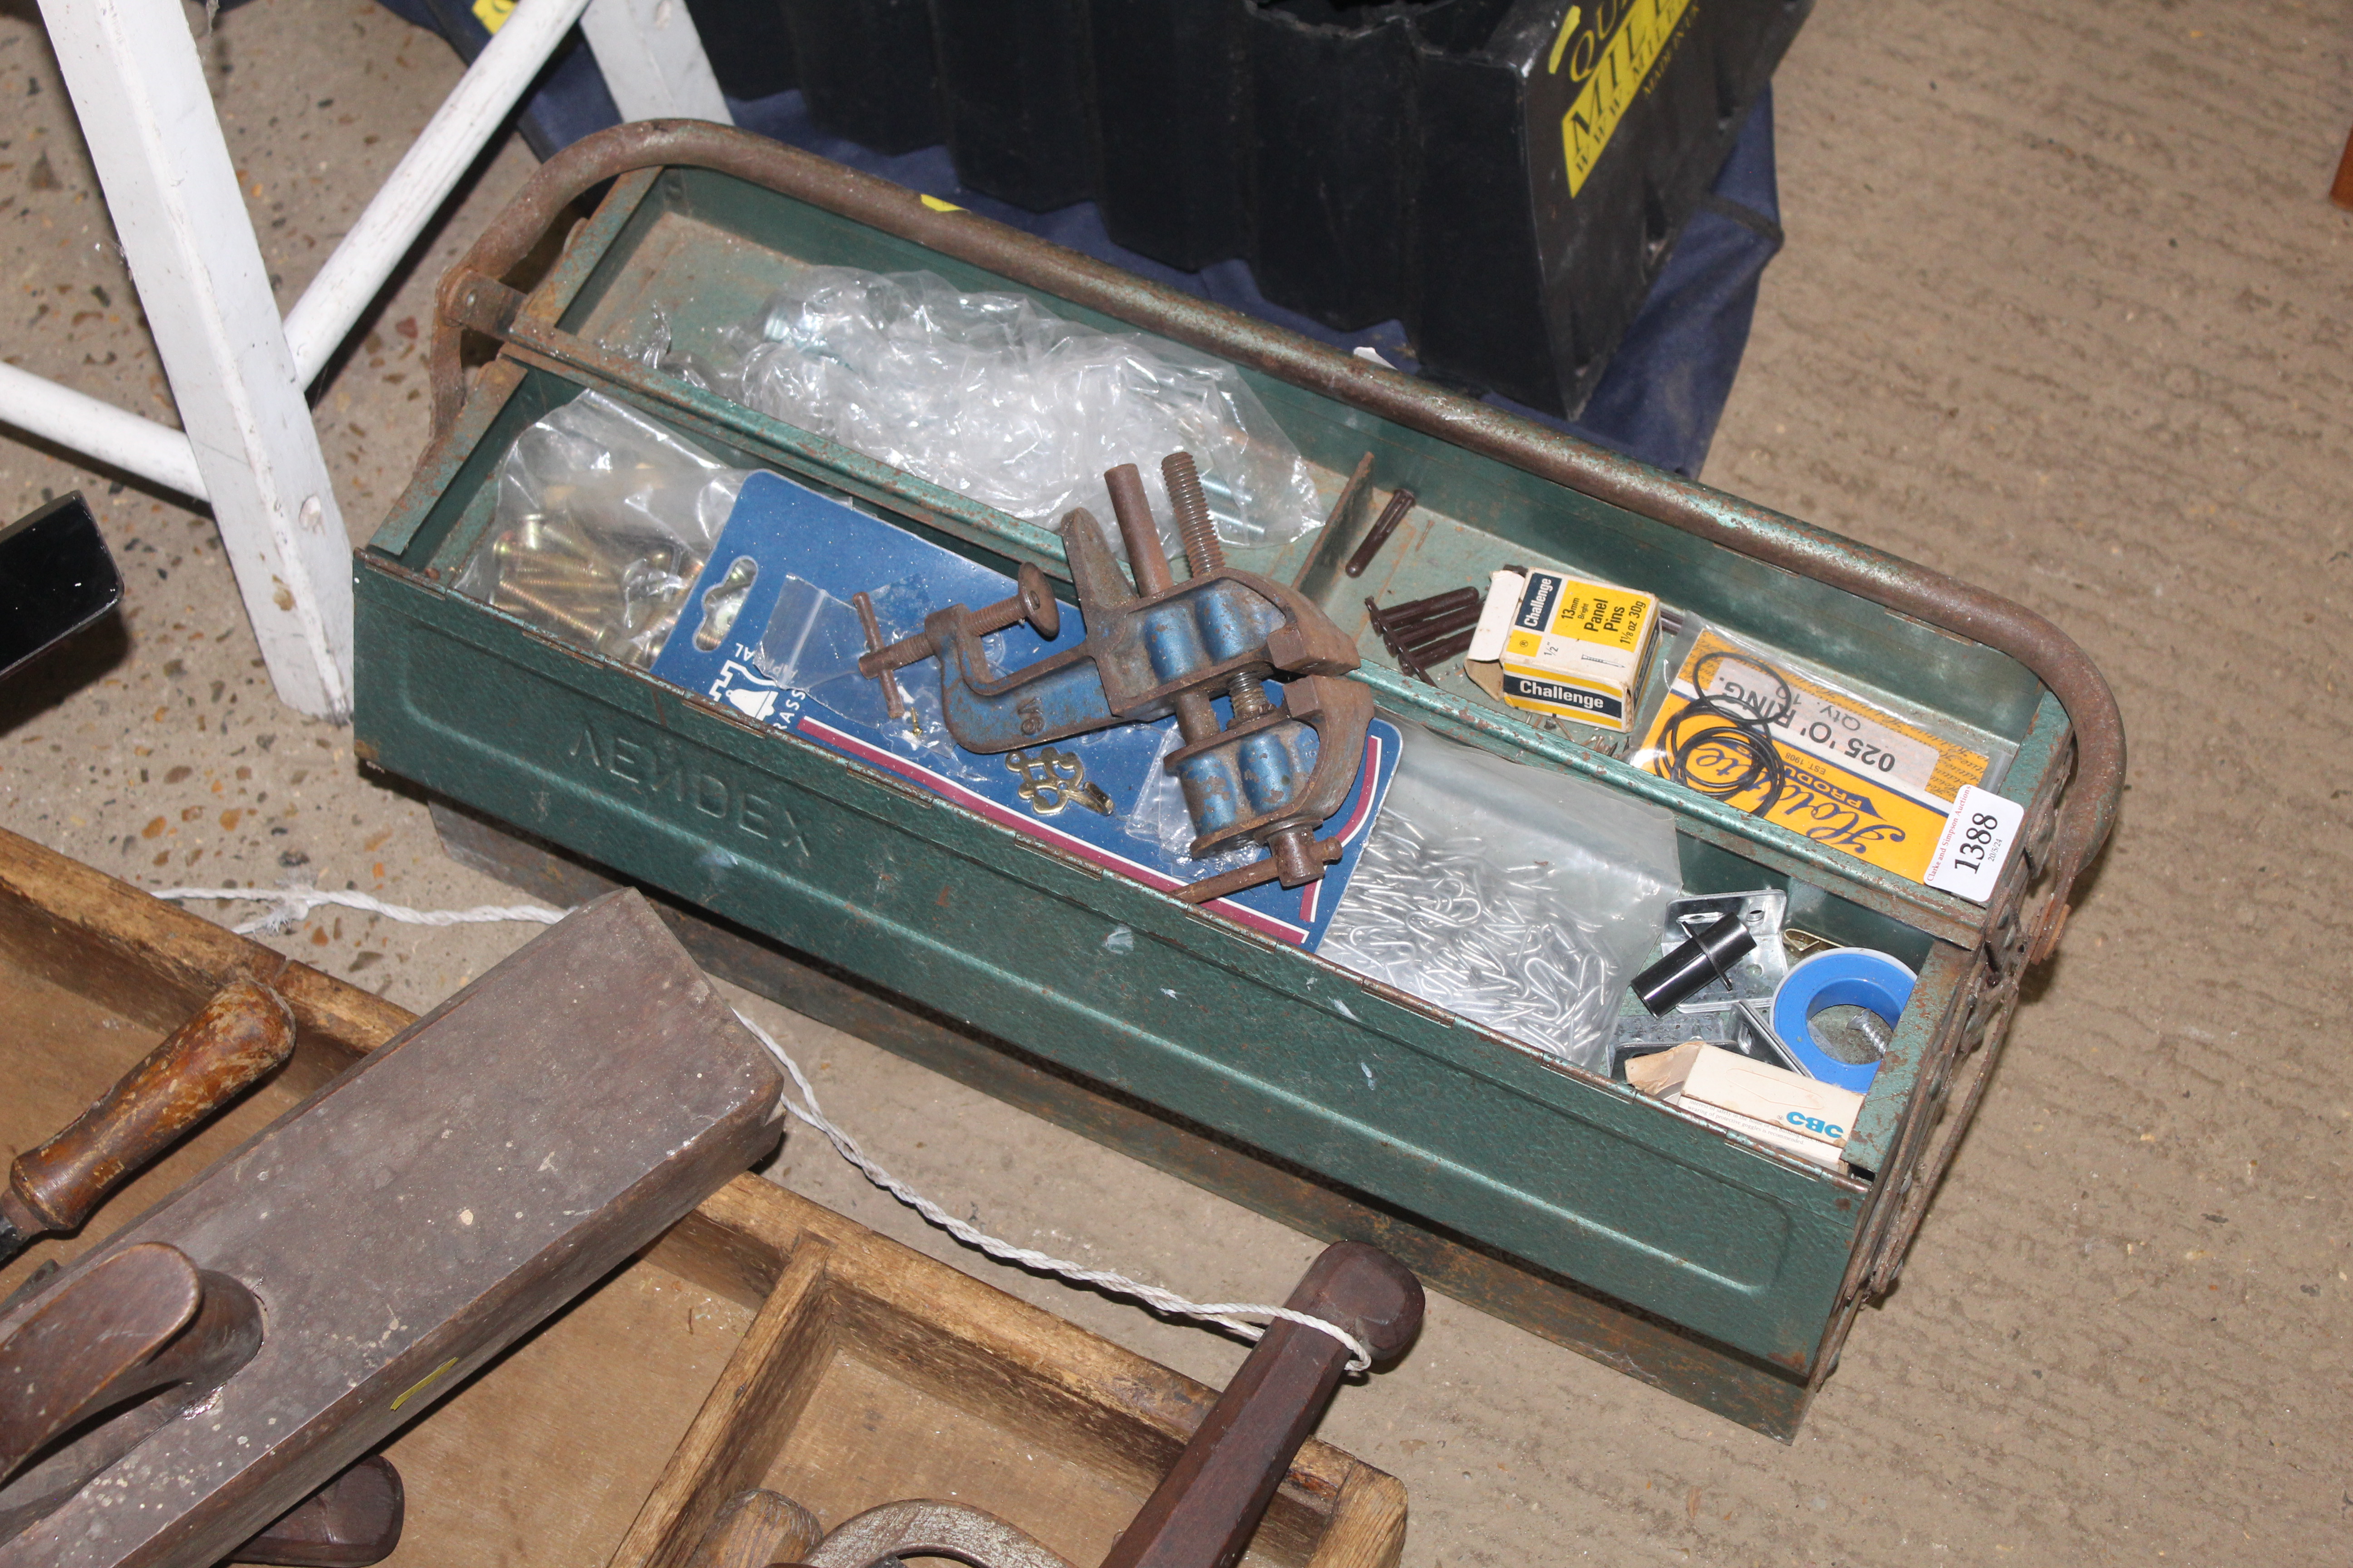
[[[1619,992],[1680,891],[1668,811],[1405,726],[1318,952],[1607,1074]]]

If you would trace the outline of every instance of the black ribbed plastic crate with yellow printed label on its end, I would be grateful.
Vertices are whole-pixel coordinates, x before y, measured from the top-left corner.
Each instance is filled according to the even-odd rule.
[[[1548,414],[1600,381],[1809,2],[927,0],[918,38],[918,0],[786,0],[826,129],[922,146],[932,49],[972,190],[1092,195],[1153,261],[1242,256],[1271,303],[1402,322],[1424,374]]]

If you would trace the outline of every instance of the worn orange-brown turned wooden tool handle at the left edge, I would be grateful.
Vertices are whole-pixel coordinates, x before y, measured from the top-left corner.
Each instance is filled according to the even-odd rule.
[[[26,1237],[73,1229],[125,1175],[292,1051],[294,1013],[285,999],[259,980],[231,980],[73,1126],[16,1157],[0,1190],[0,1220]]]

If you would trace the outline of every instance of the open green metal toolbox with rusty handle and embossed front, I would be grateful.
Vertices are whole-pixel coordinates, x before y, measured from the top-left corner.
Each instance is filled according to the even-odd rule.
[[[692,348],[762,303],[781,256],[929,268],[1146,329],[1235,364],[1318,470],[1372,451],[1384,484],[1421,498],[1424,531],[1327,604],[1365,630],[1358,679],[1386,712],[1657,802],[1689,889],[1788,889],[1809,931],[1918,971],[1847,1168],[1574,1072],[454,595],[506,449],[581,388],[991,567],[1066,578],[1045,529],[609,348],[656,310]],[[1438,1288],[1781,1436],[1857,1307],[1894,1281],[2122,788],[2106,684],[2017,604],[720,127],[631,125],[551,160],[442,284],[433,397],[435,440],[358,559],[365,759],[765,945],[772,973],[814,976],[784,992],[833,997],[885,1044],[1304,1229],[1379,1241]],[[1289,581],[1318,543],[1334,541],[1235,555]],[[2026,809],[2021,853],[1991,903],[1760,823],[1459,677],[1407,679],[1348,611],[1367,590],[1414,597],[1529,559],[1647,585],[2014,745],[1998,792]],[[1106,961],[1115,926],[1134,950]]]

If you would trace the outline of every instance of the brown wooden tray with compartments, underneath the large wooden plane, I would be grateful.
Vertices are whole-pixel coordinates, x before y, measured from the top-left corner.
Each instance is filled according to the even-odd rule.
[[[12,983],[52,985],[125,1025],[162,1032],[238,973],[268,980],[294,1009],[294,1060],[264,1091],[282,1105],[412,1020],[388,1001],[0,830],[0,999]],[[0,1041],[7,1044],[14,1041]],[[118,1044],[132,1046],[127,1037]],[[231,1119],[264,1114],[268,1110],[247,1105]],[[191,1159],[184,1164],[176,1178],[195,1168]],[[172,1178],[169,1171],[158,1175]],[[141,1187],[118,1194],[85,1227],[82,1241],[134,1218],[151,1199]],[[9,1279],[28,1262],[31,1255]],[[581,1342],[591,1333],[581,1319],[595,1316],[598,1298],[661,1291],[661,1279],[671,1279],[671,1291],[685,1279],[727,1298],[751,1309],[751,1321],[715,1378],[704,1363],[687,1378],[692,1387],[673,1378],[659,1408],[647,1394],[642,1420],[656,1427],[675,1420],[685,1425],[685,1441],[659,1474],[647,1467],[635,1481],[649,1490],[633,1493],[645,1502],[626,1533],[619,1521],[614,1526],[621,1542],[609,1559],[614,1568],[687,1563],[718,1505],[746,1486],[793,1495],[828,1528],[880,1502],[958,1493],[1005,1514],[1073,1563],[1092,1563],[1214,1403],[1212,1389],[1165,1366],[744,1175],[579,1309],[527,1338],[506,1363],[494,1363],[475,1387],[402,1434],[400,1465],[416,1465],[412,1453],[428,1455],[426,1469],[409,1474],[412,1519],[419,1500],[447,1497],[454,1486],[449,1472],[431,1467],[435,1455],[440,1462],[464,1458],[464,1443],[435,1441],[438,1429],[456,1432],[468,1420],[468,1399],[480,1406],[501,1387],[515,1387],[501,1378],[525,1378],[534,1361],[546,1371],[562,1335],[574,1338],[574,1382],[541,1389],[553,1420],[539,1415],[525,1429],[544,1455],[529,1453],[508,1472],[541,1467],[546,1488],[584,1486],[576,1472],[593,1469],[593,1455],[584,1460],[572,1450],[579,1441],[572,1410],[598,1396],[621,1406],[619,1420],[638,1413],[628,1408],[628,1378],[612,1371],[616,1352],[633,1347],[609,1338]],[[675,1321],[668,1307],[659,1321]],[[642,1324],[635,1331],[642,1333]],[[478,1408],[471,1420],[482,1425]],[[621,1481],[633,1474],[621,1472]],[[456,1476],[473,1481],[466,1469]],[[499,1514],[499,1502],[482,1497],[480,1507]],[[532,1544],[508,1544],[501,1530],[468,1533],[468,1556],[438,1556],[435,1568],[548,1561]],[[1405,1488],[1329,1443],[1308,1441],[1247,1561],[1391,1568],[1402,1544]],[[402,1561],[409,1561],[407,1549],[393,1566]]]

